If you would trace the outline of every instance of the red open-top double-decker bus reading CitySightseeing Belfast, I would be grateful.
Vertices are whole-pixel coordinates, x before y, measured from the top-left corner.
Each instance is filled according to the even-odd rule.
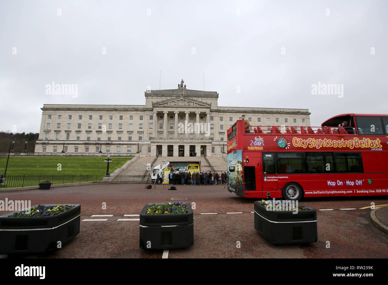
[[[239,120],[228,130],[228,190],[239,197],[388,195],[388,115],[341,114],[315,128],[250,128],[246,133]]]

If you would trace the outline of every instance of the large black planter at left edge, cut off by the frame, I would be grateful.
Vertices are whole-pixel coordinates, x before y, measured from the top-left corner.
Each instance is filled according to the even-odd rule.
[[[45,204],[57,205],[61,206]],[[10,217],[20,211],[0,216],[0,254],[45,252],[57,249],[59,241],[63,247],[80,233],[81,205],[72,205],[72,209],[51,217]]]

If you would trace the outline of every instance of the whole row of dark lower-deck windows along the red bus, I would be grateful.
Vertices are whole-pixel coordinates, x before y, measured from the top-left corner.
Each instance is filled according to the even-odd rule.
[[[358,152],[263,152],[264,174],[363,172]]]

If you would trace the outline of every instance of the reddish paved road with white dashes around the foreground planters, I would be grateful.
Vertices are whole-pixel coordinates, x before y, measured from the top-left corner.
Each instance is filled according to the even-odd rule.
[[[254,228],[253,202],[257,199],[239,198],[222,185],[178,185],[175,191],[167,188],[158,185],[156,189],[147,190],[144,184],[96,184],[0,193],[0,200],[6,197],[9,200],[31,200],[31,205],[81,204],[81,228],[77,237],[52,254],[29,257],[161,258],[162,250],[139,248],[139,221],[118,219],[138,218],[124,215],[139,214],[150,202],[186,201],[194,202],[196,206],[194,245],[188,249],[170,250],[168,258],[388,258],[388,235],[371,223],[369,208],[371,202],[376,206],[388,204],[388,197],[305,199],[301,204],[322,210],[333,209],[317,212],[318,242],[273,245]],[[103,203],[106,203],[106,209],[102,209]],[[362,207],[368,208],[360,209]],[[106,221],[82,221],[84,219]],[[237,241],[241,248],[236,247]],[[330,248],[327,248],[328,242]]]

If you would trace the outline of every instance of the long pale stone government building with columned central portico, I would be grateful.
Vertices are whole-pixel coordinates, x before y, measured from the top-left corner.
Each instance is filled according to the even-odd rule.
[[[189,90],[183,83],[147,90],[145,105],[44,104],[35,152],[222,156],[227,130],[242,114],[252,126],[310,126],[308,109],[221,107],[217,92]],[[190,123],[200,132],[180,127]]]

